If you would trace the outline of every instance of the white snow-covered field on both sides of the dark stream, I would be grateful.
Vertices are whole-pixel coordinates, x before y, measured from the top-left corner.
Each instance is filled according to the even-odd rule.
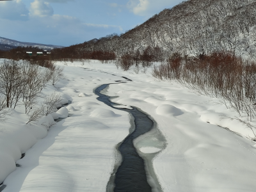
[[[115,147],[129,134],[130,118],[99,102],[93,88],[125,81],[122,76],[132,81],[111,84],[107,94],[157,122],[165,141],[148,132],[134,144],[140,154],[156,155],[152,164],[163,191],[255,191],[256,143],[248,139],[253,133],[235,120],[221,120],[220,115],[235,113],[217,99],[157,81],[150,69],[136,74],[90,61],[83,66],[67,63],[64,73],[66,79],[57,86],[63,99],[72,100],[68,118],[47,132],[43,125],[24,125],[27,116],[17,110],[0,125],[0,179],[10,173],[4,192],[106,191],[116,163]],[[51,92],[50,86],[44,90],[45,95]],[[15,168],[15,161],[21,167]]]

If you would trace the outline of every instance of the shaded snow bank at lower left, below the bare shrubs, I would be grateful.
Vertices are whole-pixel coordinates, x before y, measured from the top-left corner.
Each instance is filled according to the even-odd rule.
[[[0,183],[16,169],[15,162],[20,159],[21,154],[47,135],[47,129],[43,125],[5,124],[8,130],[0,131]]]

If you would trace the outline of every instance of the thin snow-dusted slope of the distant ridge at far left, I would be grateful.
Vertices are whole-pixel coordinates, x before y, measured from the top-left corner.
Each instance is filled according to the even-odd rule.
[[[28,43],[28,42],[19,42],[16,40],[12,40],[9,38],[3,38],[0,36],[0,44],[3,45],[12,45],[14,47],[38,47],[39,49],[54,49],[54,48],[61,48],[63,46],[58,45],[45,45],[45,44],[36,44],[36,43]],[[1,49],[1,48],[0,48]]]

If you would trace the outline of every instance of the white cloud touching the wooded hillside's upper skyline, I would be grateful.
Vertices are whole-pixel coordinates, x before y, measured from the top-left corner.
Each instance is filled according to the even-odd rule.
[[[172,8],[182,0],[129,0],[127,8],[135,15],[152,16],[164,8]]]

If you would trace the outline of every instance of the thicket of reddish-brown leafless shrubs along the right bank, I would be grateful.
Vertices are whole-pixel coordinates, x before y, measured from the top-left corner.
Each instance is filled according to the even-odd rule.
[[[173,54],[167,63],[153,68],[152,76],[175,80],[197,93],[219,98],[239,116],[246,114],[247,122],[256,117],[256,64],[253,61],[243,61],[230,52],[201,54],[198,58]]]

